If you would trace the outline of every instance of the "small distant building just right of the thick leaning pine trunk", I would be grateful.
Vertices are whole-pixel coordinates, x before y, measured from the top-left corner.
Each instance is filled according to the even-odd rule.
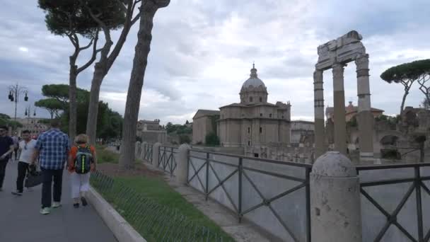
[[[142,142],[150,144],[167,142],[167,132],[160,125],[160,120],[139,120],[137,122],[136,136],[141,137]]]

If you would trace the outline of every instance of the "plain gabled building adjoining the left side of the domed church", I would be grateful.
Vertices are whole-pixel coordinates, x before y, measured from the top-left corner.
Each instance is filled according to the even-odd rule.
[[[219,120],[218,110],[197,110],[191,123],[192,144],[204,144],[207,134],[216,133],[216,120]]]

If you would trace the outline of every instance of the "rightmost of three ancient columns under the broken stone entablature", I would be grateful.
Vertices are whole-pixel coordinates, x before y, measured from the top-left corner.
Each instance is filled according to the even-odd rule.
[[[371,113],[371,91],[368,81],[368,54],[355,60],[357,72],[357,96],[359,110],[357,121],[359,125],[360,160],[373,159],[373,115]]]

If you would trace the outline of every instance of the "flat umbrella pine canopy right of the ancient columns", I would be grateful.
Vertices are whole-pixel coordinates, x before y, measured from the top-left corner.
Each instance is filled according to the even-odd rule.
[[[430,59],[422,59],[391,67],[384,71],[383,74],[380,74],[380,78],[388,83],[399,83],[405,79],[419,79],[422,74],[429,72]]]

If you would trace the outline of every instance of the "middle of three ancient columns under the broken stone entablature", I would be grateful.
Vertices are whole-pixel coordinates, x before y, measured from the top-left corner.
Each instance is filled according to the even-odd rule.
[[[335,151],[347,154],[347,125],[345,122],[344,65],[333,65],[333,99],[335,109]]]

